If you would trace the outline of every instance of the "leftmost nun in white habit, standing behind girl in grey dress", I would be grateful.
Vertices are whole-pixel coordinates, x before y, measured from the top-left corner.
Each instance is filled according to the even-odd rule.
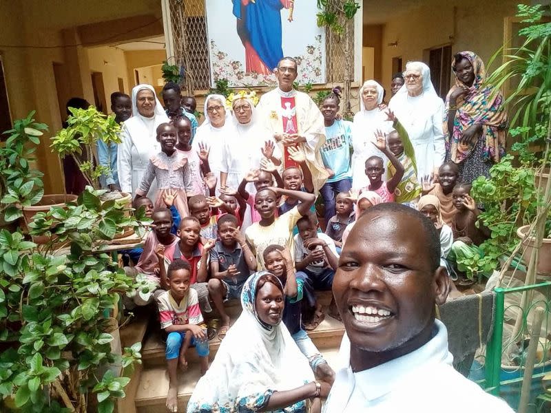
[[[123,192],[136,195],[149,164],[149,158],[160,151],[156,130],[169,119],[155,95],[152,85],[138,85],[132,89],[132,118],[123,125],[122,142],[117,150],[118,180]],[[157,184],[153,182],[147,197],[155,202]]]

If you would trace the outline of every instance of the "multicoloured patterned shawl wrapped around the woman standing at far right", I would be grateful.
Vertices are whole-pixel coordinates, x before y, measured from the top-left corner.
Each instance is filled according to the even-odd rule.
[[[460,52],[459,55],[468,59],[475,72],[475,81],[466,95],[457,98],[453,132],[448,133],[448,123],[444,122],[444,135],[446,136],[446,149],[450,153],[450,160],[461,163],[466,160],[476,146],[461,143],[464,131],[471,125],[482,125],[483,160],[499,159],[505,154],[505,139],[507,128],[507,114],[503,105],[503,95],[496,91],[492,85],[485,85],[486,68],[482,59],[473,52]],[[452,70],[455,73],[455,56],[452,61]],[[446,119],[450,107],[450,95],[457,87],[463,87],[464,83],[455,78],[455,85],[446,96]]]

